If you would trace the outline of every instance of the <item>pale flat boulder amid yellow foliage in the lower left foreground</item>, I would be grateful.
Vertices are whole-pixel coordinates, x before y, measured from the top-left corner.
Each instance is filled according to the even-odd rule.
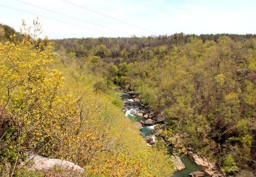
[[[69,162],[67,160],[48,159],[38,155],[30,155],[28,156],[27,160],[31,160],[31,162],[33,162],[33,165],[31,166],[31,168],[37,169],[38,171],[43,169],[50,169],[50,168],[53,168],[53,166],[57,165],[63,168],[71,169],[73,171],[83,172],[82,167],[74,164],[73,162]]]

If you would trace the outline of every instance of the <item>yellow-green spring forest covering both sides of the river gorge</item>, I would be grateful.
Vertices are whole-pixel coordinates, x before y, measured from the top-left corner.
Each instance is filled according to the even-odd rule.
[[[30,175],[18,165],[27,153],[85,176],[171,176],[167,149],[145,145],[124,117],[120,88],[164,118],[163,139],[179,136],[226,175],[255,175],[256,35],[48,40],[40,30],[0,27],[2,176]],[[34,173],[67,173],[56,171]]]

